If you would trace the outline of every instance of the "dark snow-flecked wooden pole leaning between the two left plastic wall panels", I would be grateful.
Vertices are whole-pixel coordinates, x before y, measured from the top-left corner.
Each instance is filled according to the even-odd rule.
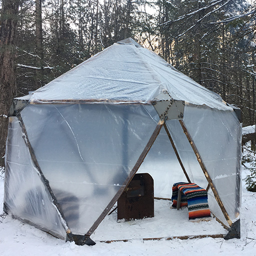
[[[44,176],[44,174],[43,174],[43,172],[42,172],[42,170],[41,170],[41,167],[40,167],[40,165],[39,165],[39,163],[38,163],[38,161],[37,161],[37,159],[36,159],[34,150],[33,150],[32,145],[31,145],[31,143],[30,143],[30,141],[29,141],[29,139],[28,139],[26,127],[25,127],[25,124],[24,124],[24,122],[23,122],[23,120],[22,120],[21,115],[18,114],[18,115],[17,115],[17,118],[18,118],[18,120],[19,120],[19,124],[20,124],[21,130],[22,130],[22,132],[23,132],[23,134],[24,134],[22,137],[23,137],[24,142],[25,142],[25,144],[26,144],[26,146],[27,146],[27,148],[28,148],[28,151],[29,151],[29,153],[30,153],[31,159],[32,159],[32,161],[33,161],[33,164],[34,164],[35,168],[36,168],[37,171],[38,171],[37,173],[38,173],[40,179],[42,180],[43,184],[45,185],[46,189],[49,191],[50,196],[51,196],[51,198],[52,198],[52,202],[53,202],[53,204],[56,206],[57,211],[59,212],[60,216],[61,216],[62,219],[63,219],[62,225],[63,225],[63,227],[65,228],[66,233],[67,233],[67,234],[70,234],[71,231],[70,231],[69,227],[67,226],[67,222],[66,222],[64,213],[62,212],[62,210],[61,210],[61,208],[60,208],[60,205],[59,205],[59,203],[58,203],[58,201],[57,201],[57,199],[56,199],[56,197],[55,197],[53,191],[51,190],[51,187],[50,187],[50,185],[49,185],[49,181],[45,178],[45,176]]]

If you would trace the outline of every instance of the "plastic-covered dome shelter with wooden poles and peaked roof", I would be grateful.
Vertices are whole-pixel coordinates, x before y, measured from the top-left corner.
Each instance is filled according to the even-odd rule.
[[[156,197],[177,181],[208,191],[239,236],[239,109],[131,38],[15,98],[4,210],[59,238],[89,238],[136,172]]]

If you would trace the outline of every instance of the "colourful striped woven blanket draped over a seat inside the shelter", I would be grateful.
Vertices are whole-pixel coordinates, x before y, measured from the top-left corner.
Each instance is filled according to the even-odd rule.
[[[195,183],[178,182],[172,186],[172,207],[177,205],[178,190],[181,191],[180,207],[188,207],[188,218],[210,216],[207,191]]]

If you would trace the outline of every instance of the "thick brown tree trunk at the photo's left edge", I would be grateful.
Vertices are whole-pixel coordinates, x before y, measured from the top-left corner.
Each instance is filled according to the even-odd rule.
[[[0,19],[0,166],[4,165],[8,112],[16,92],[15,34],[19,0],[2,0]]]

